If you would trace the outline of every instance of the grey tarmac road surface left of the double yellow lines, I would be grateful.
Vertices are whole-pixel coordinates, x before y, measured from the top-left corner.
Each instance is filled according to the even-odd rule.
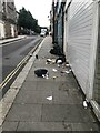
[[[2,81],[17,66],[17,64],[33,49],[40,37],[27,37],[2,44]]]

